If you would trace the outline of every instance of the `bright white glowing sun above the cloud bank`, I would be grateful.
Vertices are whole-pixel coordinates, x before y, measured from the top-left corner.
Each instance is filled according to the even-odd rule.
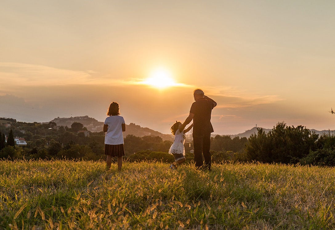
[[[150,76],[143,81],[143,84],[152,86],[158,89],[177,86],[178,83],[172,78],[171,73],[164,68],[153,70]]]

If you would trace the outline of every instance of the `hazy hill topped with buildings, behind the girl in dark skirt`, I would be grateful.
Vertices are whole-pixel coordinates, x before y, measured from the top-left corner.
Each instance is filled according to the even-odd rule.
[[[83,126],[86,127],[88,131],[91,131],[91,132],[101,132],[104,127],[104,122],[97,121],[96,119],[88,117],[88,116],[68,117],[68,118],[58,117],[58,118],[53,119],[52,122],[55,122],[58,126],[67,126],[69,128],[71,128],[71,125],[73,122],[79,122],[83,124]],[[143,128],[134,123],[130,123],[129,125],[126,124],[126,131],[123,133],[123,136],[126,137],[127,135],[134,135],[138,137],[153,135],[153,136],[161,137],[163,141],[164,140],[170,140],[170,141],[174,140],[174,137],[171,134],[162,134],[160,132],[157,132],[149,128]]]

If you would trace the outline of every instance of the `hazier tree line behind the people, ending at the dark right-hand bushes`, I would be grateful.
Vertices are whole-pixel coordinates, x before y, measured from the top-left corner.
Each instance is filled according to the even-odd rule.
[[[74,122],[71,128],[60,126],[54,129],[56,123],[49,122],[40,124],[38,122],[25,123],[13,122],[10,128],[0,126],[2,133],[12,132],[13,136],[23,137],[27,141],[27,146],[17,145],[4,146],[0,149],[1,158],[25,158],[25,159],[51,159],[51,158],[69,158],[69,159],[87,159],[98,160],[105,159],[104,155],[104,132],[90,132],[89,136],[79,132],[87,130],[81,123]],[[9,131],[10,130],[10,131]],[[247,138],[233,138],[229,136],[216,136],[212,138],[212,150],[218,152],[240,151],[244,147]],[[159,136],[134,136],[127,135],[124,138],[125,154],[128,160],[135,161],[143,159],[162,160],[173,159],[168,154],[172,141],[164,140]],[[185,142],[185,151],[189,159],[193,158],[190,152],[193,149],[192,140]],[[150,152],[150,154],[146,154]],[[135,154],[136,153],[136,154]],[[139,156],[142,154],[141,156]],[[160,156],[160,157],[158,157]],[[223,160],[223,158],[221,159]]]

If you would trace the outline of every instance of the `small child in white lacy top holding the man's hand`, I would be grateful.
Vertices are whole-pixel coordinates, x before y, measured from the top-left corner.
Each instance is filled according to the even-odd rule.
[[[185,162],[185,133],[190,131],[193,127],[193,124],[191,124],[187,129],[180,130],[179,126],[181,124],[182,123],[180,121],[176,121],[176,123],[171,126],[171,132],[173,135],[175,135],[175,140],[169,149],[169,153],[175,157],[175,162],[170,165],[171,169],[176,169],[177,164],[182,164]]]

